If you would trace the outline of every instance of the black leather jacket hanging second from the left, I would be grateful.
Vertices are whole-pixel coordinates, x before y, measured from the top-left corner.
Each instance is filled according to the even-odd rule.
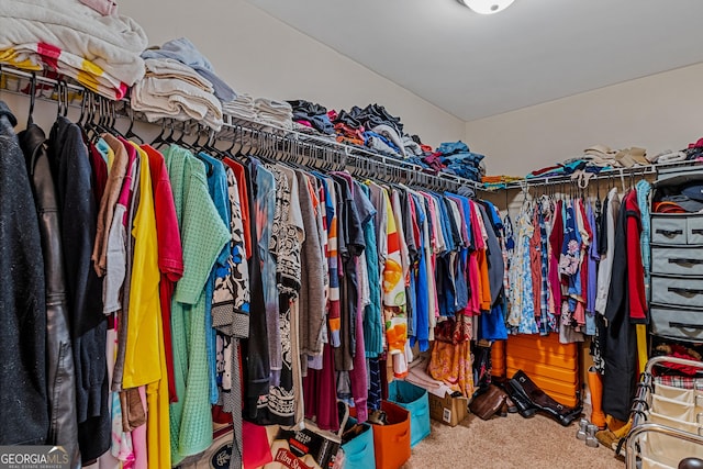
[[[40,222],[46,282],[46,370],[49,404],[48,444],[62,445],[79,467],[78,422],[76,420],[76,372],[71,350],[64,253],[58,203],[46,156],[46,135],[36,124],[20,133],[30,183]]]

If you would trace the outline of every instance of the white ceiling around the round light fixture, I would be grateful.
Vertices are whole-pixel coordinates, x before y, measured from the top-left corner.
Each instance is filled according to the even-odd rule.
[[[248,0],[464,121],[703,62],[701,0]]]

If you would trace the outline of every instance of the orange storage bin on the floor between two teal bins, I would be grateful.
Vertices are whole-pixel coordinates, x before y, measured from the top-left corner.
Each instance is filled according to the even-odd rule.
[[[389,401],[381,401],[387,425],[373,427],[377,469],[399,469],[410,459],[410,412]]]

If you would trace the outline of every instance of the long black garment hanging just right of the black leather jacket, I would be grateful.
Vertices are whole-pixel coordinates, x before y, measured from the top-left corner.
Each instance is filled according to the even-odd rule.
[[[102,282],[91,267],[98,210],[88,147],[80,127],[59,116],[52,127],[48,157],[62,214],[62,243],[76,365],[78,440],[81,459],[110,447],[107,382],[107,321]]]

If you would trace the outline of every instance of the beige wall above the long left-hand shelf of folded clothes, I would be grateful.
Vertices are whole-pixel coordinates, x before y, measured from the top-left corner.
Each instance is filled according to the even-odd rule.
[[[383,104],[406,132],[436,146],[464,138],[465,123],[243,0],[121,0],[120,13],[150,45],[186,36],[238,91],[306,99],[328,109]]]

